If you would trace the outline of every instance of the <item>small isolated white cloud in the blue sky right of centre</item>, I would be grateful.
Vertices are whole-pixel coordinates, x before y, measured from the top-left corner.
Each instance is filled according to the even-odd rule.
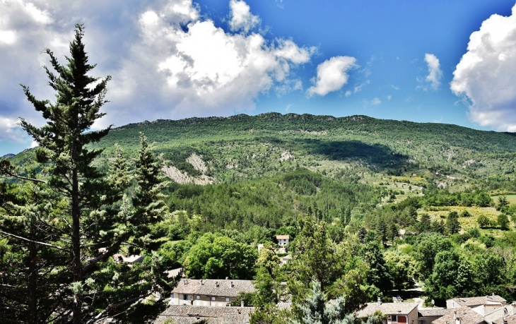
[[[327,95],[340,90],[348,82],[348,70],[356,66],[356,59],[351,56],[334,56],[317,66],[317,78],[314,85],[307,90],[307,95]]]

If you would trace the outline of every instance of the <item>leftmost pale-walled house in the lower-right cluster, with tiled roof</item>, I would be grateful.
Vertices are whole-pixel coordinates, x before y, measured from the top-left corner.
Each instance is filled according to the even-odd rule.
[[[367,303],[355,316],[366,318],[377,312],[387,316],[383,324],[418,324],[418,303]]]

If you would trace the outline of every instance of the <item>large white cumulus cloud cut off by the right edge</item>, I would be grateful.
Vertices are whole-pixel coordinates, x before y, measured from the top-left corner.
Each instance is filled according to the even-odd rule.
[[[516,131],[516,5],[511,16],[493,15],[471,34],[450,88],[472,121]]]

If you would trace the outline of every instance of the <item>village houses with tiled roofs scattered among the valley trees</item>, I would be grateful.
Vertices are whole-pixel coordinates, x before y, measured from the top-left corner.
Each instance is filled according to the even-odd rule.
[[[276,236],[277,254],[286,254],[289,239],[288,235]],[[259,244],[259,250],[263,246]],[[141,256],[115,255],[113,258],[128,265],[142,260]],[[289,254],[282,256],[281,265],[288,263],[291,258]],[[242,294],[255,291],[252,280],[233,280],[229,277],[189,279],[184,277],[182,268],[170,270],[168,276],[180,276],[181,279],[170,299],[167,299],[167,309],[160,313],[154,324],[250,323],[254,307],[246,305],[244,301],[238,306],[233,305]],[[286,286],[286,282],[282,284]],[[416,289],[422,291],[421,288]],[[382,302],[378,298],[376,302],[364,304],[353,316],[365,319],[381,314],[382,324],[516,324],[516,301],[510,303],[496,294],[448,299],[446,307],[427,307],[423,302],[422,298],[404,301],[399,296],[393,296],[392,302]],[[276,306],[279,309],[290,309],[291,302],[282,301]]]

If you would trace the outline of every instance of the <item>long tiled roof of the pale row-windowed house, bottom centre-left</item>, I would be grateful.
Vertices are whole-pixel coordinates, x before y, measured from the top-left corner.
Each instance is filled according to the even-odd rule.
[[[252,284],[251,280],[182,279],[172,292],[236,297],[240,292],[254,292],[254,284]]]

